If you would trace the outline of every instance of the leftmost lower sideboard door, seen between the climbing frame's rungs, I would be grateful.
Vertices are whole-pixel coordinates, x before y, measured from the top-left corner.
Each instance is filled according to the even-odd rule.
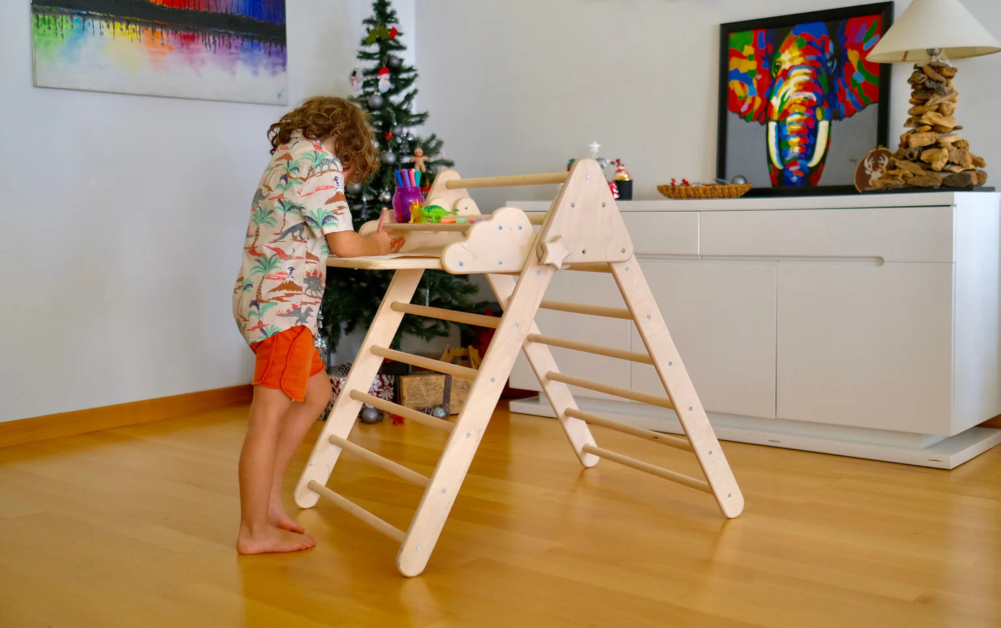
[[[575,271],[556,273],[550,289],[546,292],[546,299],[606,307],[626,307],[612,275],[606,273]],[[556,336],[616,349],[629,349],[630,327],[633,325],[631,321],[623,319],[544,309],[539,310],[536,323],[539,325],[539,333],[544,336]],[[628,362],[556,347],[551,347],[550,351],[553,352],[561,373],[629,388]],[[511,373],[511,385],[528,390],[542,389],[524,353],[521,353],[515,362]],[[573,391],[575,395],[585,397],[619,399],[581,388],[574,388]]]

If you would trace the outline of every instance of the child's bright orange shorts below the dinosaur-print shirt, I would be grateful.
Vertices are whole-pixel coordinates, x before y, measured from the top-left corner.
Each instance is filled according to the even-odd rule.
[[[250,345],[257,356],[254,386],[280,390],[293,401],[306,398],[306,382],[324,369],[312,333],[298,325]]]

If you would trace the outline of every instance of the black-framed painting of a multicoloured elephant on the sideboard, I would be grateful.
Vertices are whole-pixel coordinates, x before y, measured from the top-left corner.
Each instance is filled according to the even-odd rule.
[[[854,190],[859,159],[886,143],[889,69],[867,57],[892,17],[884,2],[724,24],[718,176]]]

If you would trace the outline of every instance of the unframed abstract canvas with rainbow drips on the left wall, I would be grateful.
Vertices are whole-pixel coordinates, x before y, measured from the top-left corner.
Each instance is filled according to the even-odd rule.
[[[35,85],[287,104],[285,0],[32,0]]]

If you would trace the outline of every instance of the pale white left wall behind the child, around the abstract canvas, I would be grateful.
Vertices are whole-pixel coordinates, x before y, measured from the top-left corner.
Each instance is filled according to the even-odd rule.
[[[0,3],[0,421],[248,382],[230,297],[287,108],[36,89],[29,5]],[[346,94],[370,10],[288,0],[290,105]]]

